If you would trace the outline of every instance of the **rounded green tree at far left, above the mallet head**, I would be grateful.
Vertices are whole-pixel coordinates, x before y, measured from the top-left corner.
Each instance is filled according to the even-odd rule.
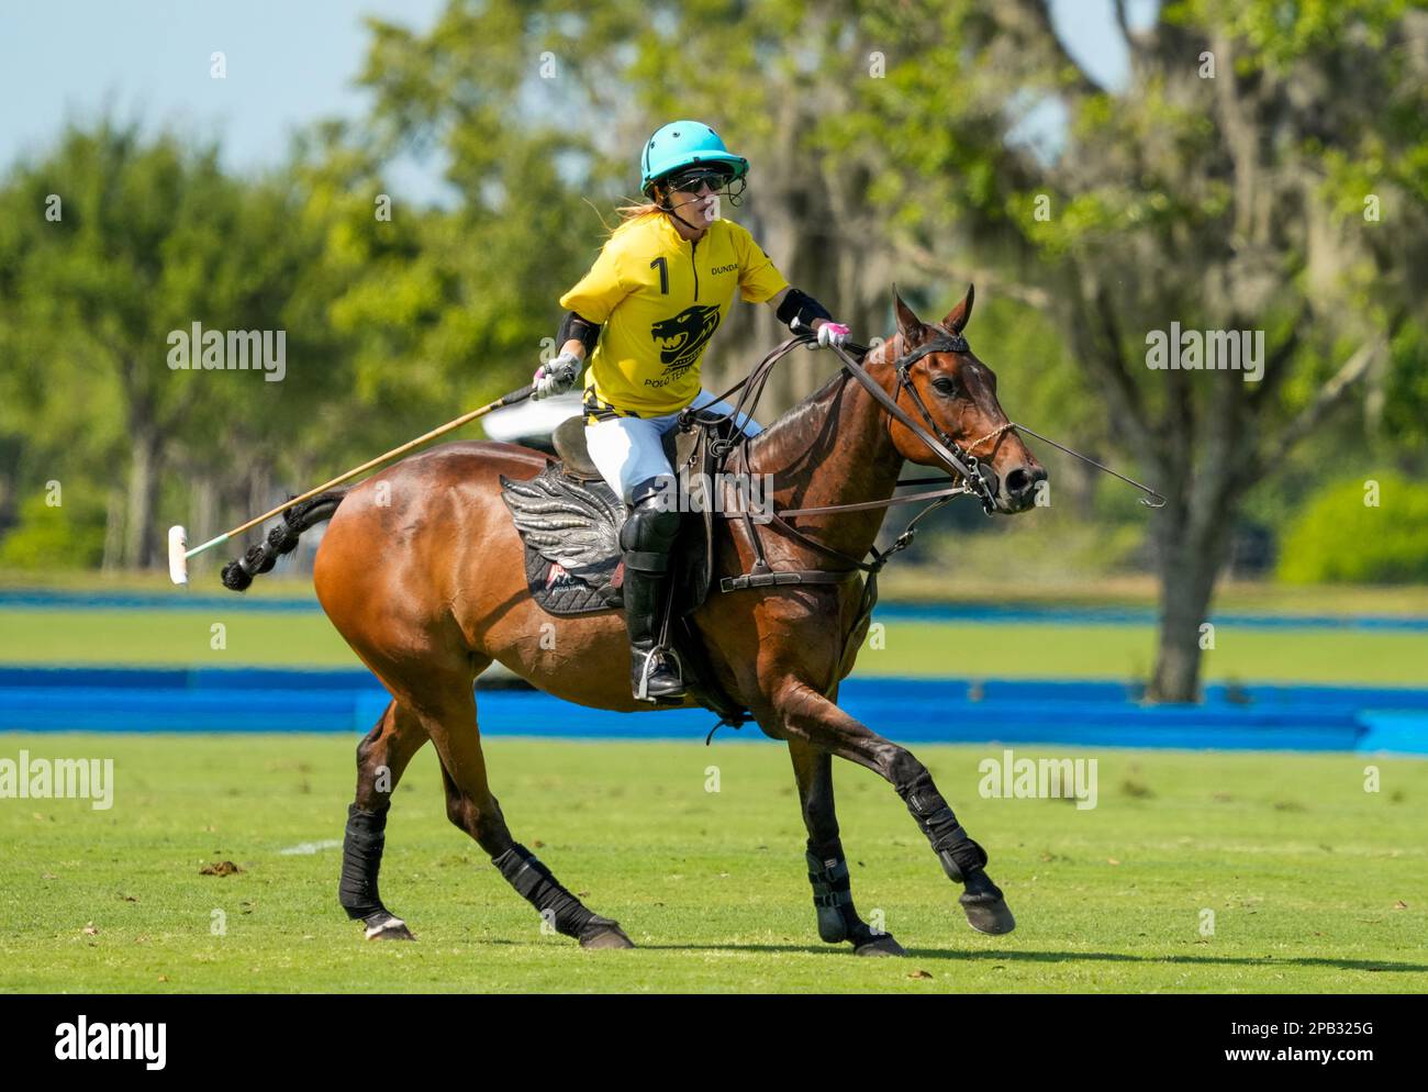
[[[0,353],[19,364],[4,373],[29,418],[17,425],[23,472],[34,484],[64,467],[113,491],[107,561],[161,562],[166,480],[177,495],[213,494],[200,507],[214,518],[217,494],[246,485],[240,507],[253,494],[266,501],[277,458],[324,443],[296,428],[347,384],[324,307],[303,310],[303,271],[318,248],[280,178],[231,178],[211,146],[146,138],[106,118],[17,164],[0,207]],[[174,368],[171,335],[194,323],[290,333],[283,381]]]

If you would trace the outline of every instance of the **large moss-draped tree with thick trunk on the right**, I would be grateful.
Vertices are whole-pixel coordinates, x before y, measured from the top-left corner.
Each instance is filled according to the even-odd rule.
[[[902,49],[843,124],[885,137],[875,190],[921,187],[910,227],[937,246],[910,233],[905,251],[930,268],[960,251],[948,275],[981,263],[1050,314],[1111,435],[1168,497],[1150,692],[1194,699],[1247,492],[1391,343],[1422,345],[1428,13],[1187,0],[1137,30],[1118,0],[1131,77],[1115,91],[1067,53],[1045,0],[873,7]],[[1048,108],[1061,147],[1028,146]],[[1171,323],[1262,331],[1262,380],[1152,370],[1148,341]]]

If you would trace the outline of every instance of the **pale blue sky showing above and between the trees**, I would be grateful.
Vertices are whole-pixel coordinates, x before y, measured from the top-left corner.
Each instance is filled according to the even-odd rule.
[[[995,3],[995,0],[988,0]],[[426,29],[446,0],[46,0],[0,6],[0,170],[39,153],[66,120],[104,108],[217,138],[230,167],[278,161],[290,133],[330,116],[360,116],[351,86],[368,36],[363,16]],[[1148,19],[1154,0],[1132,4]],[[1110,0],[1055,0],[1058,30],[1097,79],[1125,76]],[[1135,19],[1138,16],[1140,19]],[[214,50],[227,79],[208,76]],[[1052,121],[1054,124],[1054,121]],[[414,196],[440,184],[431,166],[397,178]],[[403,177],[406,176],[406,177]],[[404,187],[406,188],[406,187]]]

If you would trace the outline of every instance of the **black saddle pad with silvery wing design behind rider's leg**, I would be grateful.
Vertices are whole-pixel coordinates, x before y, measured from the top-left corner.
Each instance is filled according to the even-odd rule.
[[[548,614],[621,605],[624,504],[603,481],[573,481],[551,462],[530,481],[501,475],[501,500],[526,544],[526,582]]]

